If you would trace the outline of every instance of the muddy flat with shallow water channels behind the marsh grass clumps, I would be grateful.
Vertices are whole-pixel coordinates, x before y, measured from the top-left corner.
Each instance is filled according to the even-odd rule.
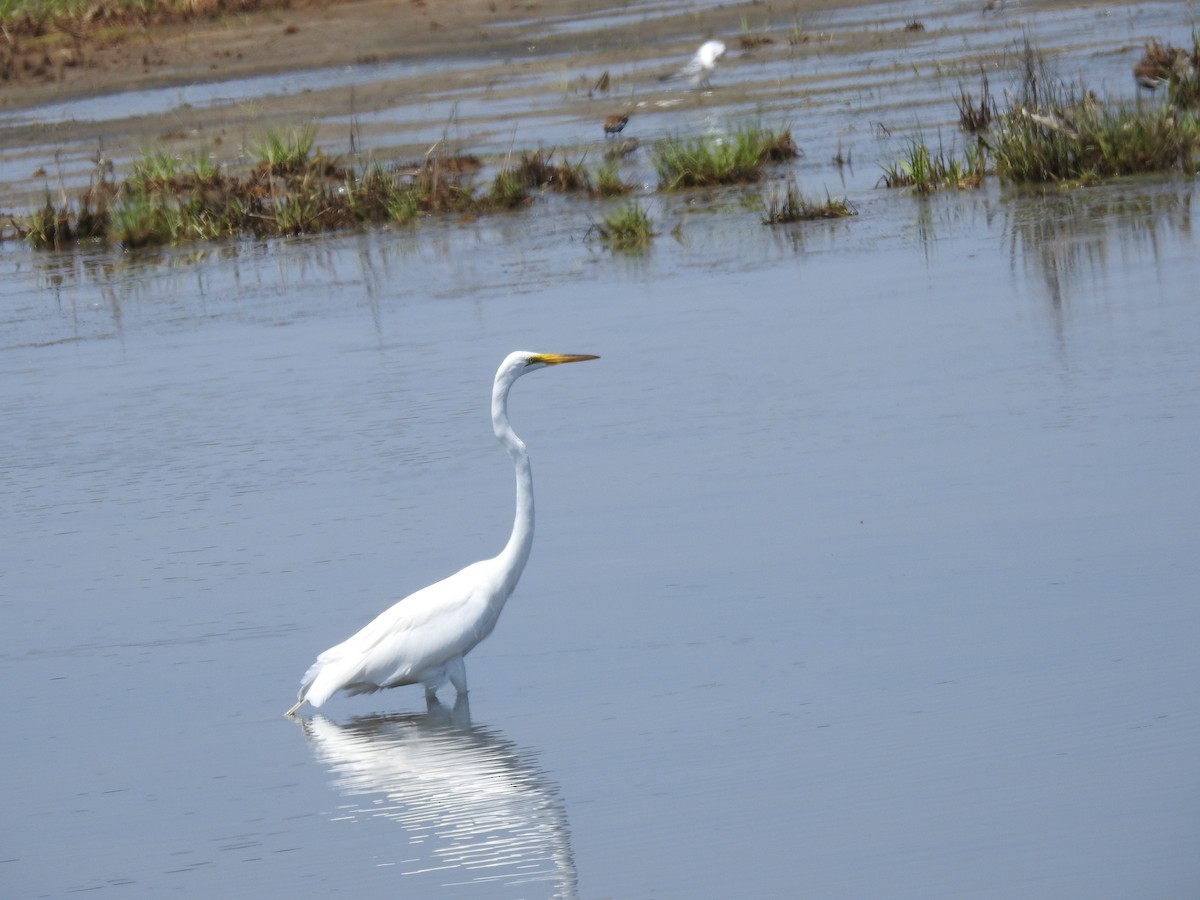
[[[906,128],[956,130],[953,98],[980,72],[1003,89],[1028,22],[1046,23],[1039,49],[1054,54],[1086,34],[1080,22],[1132,23],[1153,10],[1162,22],[1163,8],[1043,0],[985,14],[968,4],[929,11],[918,29],[900,5],[858,0],[604,8],[590,0],[294,0],[220,19],[22,36],[10,41],[10,62],[17,52],[42,70],[10,66],[0,80],[0,209],[74,194],[96,161],[114,161],[122,176],[150,148],[242,166],[268,131],[301,125],[352,163],[416,160],[448,134],[452,150],[493,162],[534,148],[578,158],[604,146],[607,115],[634,107],[629,133],[643,140],[736,116],[796,124],[816,170],[816,161],[844,154],[890,152],[881,142]],[[678,67],[709,35],[730,46],[715,90],[665,88],[664,67]],[[1150,35],[1170,37],[1162,26]],[[1094,66],[1092,83],[1132,86],[1142,40],[1130,26],[1128,37],[1070,52]],[[612,90],[594,91],[610,70]],[[841,115],[847,109],[853,115]],[[844,175],[838,169],[839,182]]]

